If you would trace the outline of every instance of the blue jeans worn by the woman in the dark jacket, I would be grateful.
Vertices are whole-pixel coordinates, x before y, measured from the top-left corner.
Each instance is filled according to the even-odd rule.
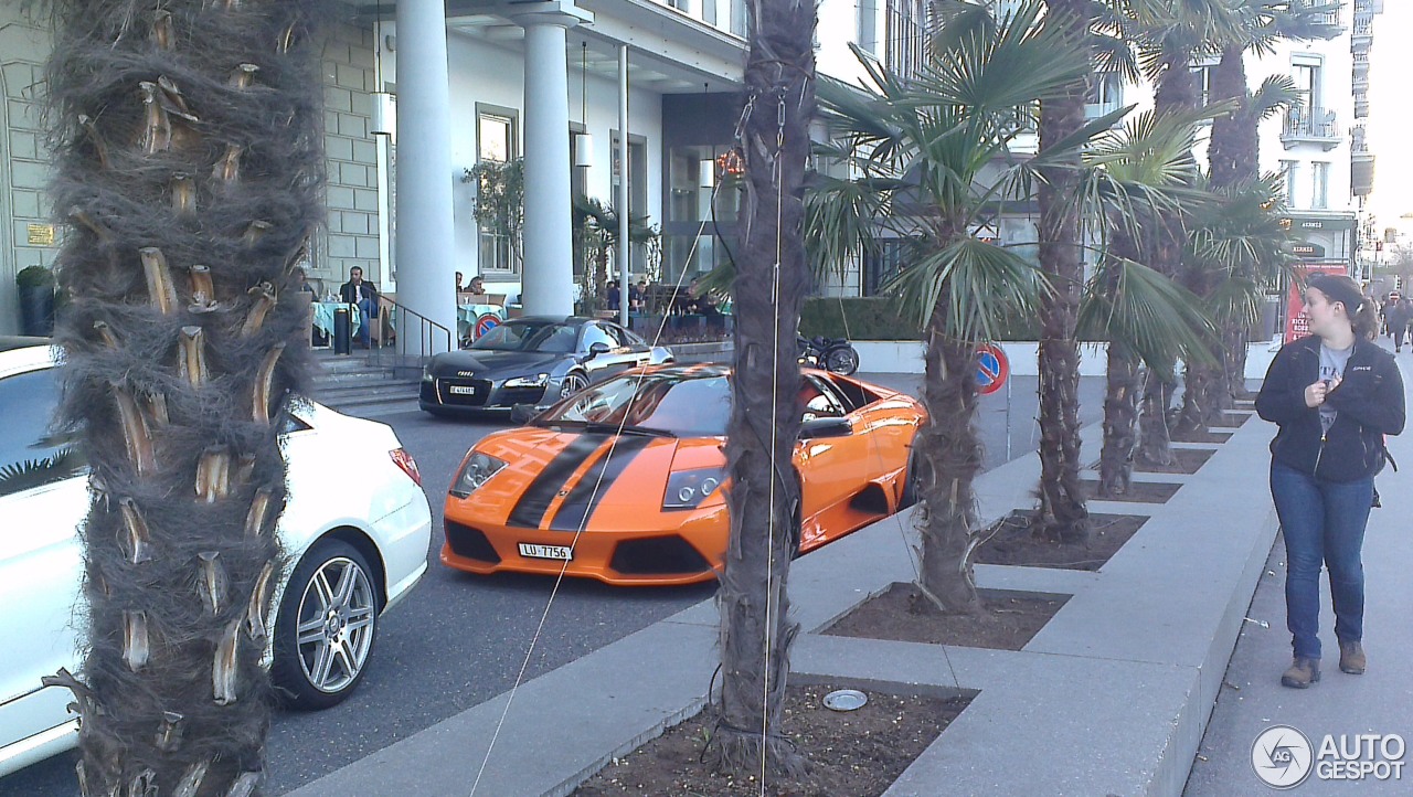
[[[1334,634],[1364,639],[1364,527],[1373,478],[1327,482],[1270,465],[1270,496],[1286,537],[1286,627],[1296,656],[1320,659],[1320,565],[1330,569]]]

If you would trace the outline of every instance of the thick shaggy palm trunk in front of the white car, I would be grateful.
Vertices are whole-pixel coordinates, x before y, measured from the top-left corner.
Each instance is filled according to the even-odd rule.
[[[64,420],[82,430],[85,794],[250,794],[280,545],[284,301],[321,213],[318,42],[297,0],[66,0],[48,71]],[[307,307],[307,305],[305,305]],[[301,350],[302,349],[302,350]]]

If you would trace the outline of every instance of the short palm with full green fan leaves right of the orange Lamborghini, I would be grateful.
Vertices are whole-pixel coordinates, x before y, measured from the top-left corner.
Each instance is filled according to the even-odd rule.
[[[909,242],[909,264],[889,288],[926,328],[930,420],[910,466],[920,497],[918,586],[948,612],[978,608],[969,562],[981,531],[972,492],[982,461],[976,345],[1031,312],[1046,290],[1016,249],[976,232],[1005,203],[1030,196],[1037,168],[1048,165],[1010,150],[1030,109],[1068,92],[1089,69],[1084,47],[1037,17],[1036,3],[999,24],[958,14],[944,20],[930,64],[911,81],[861,55],[872,88],[824,82],[820,89],[841,143],[818,151],[858,177],[815,185],[805,228],[811,260],[839,264],[879,237]]]

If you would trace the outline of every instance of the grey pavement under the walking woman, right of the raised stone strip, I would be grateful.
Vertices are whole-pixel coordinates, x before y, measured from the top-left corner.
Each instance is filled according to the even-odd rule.
[[[1399,355],[1405,389],[1410,386],[1413,360]],[[1273,425],[1262,424],[1270,432]],[[1270,434],[1267,432],[1267,434]],[[1321,681],[1310,690],[1289,690],[1280,685],[1280,673],[1290,664],[1290,634],[1286,632],[1284,545],[1277,541],[1248,616],[1267,623],[1243,623],[1236,651],[1226,671],[1217,709],[1202,739],[1200,756],[1193,763],[1193,774],[1186,797],[1241,797],[1275,794],[1258,780],[1252,769],[1252,746],[1256,736],[1272,725],[1289,725],[1301,731],[1318,749],[1325,735],[1338,743],[1341,735],[1352,748],[1358,733],[1397,733],[1413,743],[1413,434],[1389,438],[1389,451],[1403,465],[1403,472],[1386,469],[1376,479],[1383,509],[1369,517],[1364,543],[1365,569],[1365,646],[1369,670],[1364,675],[1347,675],[1338,667],[1334,640],[1334,613],[1330,609],[1328,582],[1321,584],[1324,613],[1320,633],[1324,642]],[[1255,489],[1266,489],[1255,485]],[[1253,499],[1258,496],[1252,496]],[[1259,496],[1269,500],[1267,496]],[[1396,752],[1396,750],[1390,750]],[[1365,762],[1378,760],[1368,755]],[[1413,750],[1402,756],[1413,763]],[[1328,770],[1327,770],[1328,772]],[[1308,779],[1293,794],[1413,794],[1413,770],[1402,779],[1359,781],[1323,780],[1317,764]]]

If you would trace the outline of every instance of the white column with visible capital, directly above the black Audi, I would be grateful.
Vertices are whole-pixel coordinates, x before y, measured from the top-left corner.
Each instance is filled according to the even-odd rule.
[[[567,14],[527,14],[526,218],[521,304],[526,315],[574,312],[574,243],[569,208],[569,75]]]

